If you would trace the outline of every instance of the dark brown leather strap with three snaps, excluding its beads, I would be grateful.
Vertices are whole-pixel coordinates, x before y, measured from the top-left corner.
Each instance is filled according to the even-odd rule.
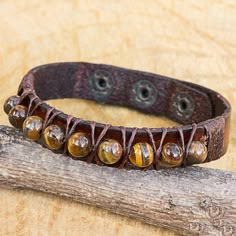
[[[83,98],[164,115],[183,124],[166,129],[124,128],[81,119],[78,122],[75,117],[70,119],[71,124],[79,123],[80,130],[92,130],[95,147],[107,136],[123,144],[126,154],[131,145],[139,141],[151,141],[154,150],[157,149],[156,155],[159,155],[160,148],[155,146],[154,140],[162,140],[162,144],[174,141],[188,148],[190,139],[199,140],[206,136],[207,162],[224,155],[229,142],[231,108],[224,97],[200,85],[161,75],[82,62],[49,64],[32,69],[23,78],[18,95],[33,112],[43,117],[51,108],[44,100]],[[52,114],[55,112],[58,111],[51,109]],[[68,132],[68,115],[56,113],[54,122]],[[93,158],[90,157],[90,161]]]

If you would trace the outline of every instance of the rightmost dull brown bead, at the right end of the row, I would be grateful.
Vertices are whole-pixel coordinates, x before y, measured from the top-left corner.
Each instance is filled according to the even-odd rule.
[[[187,164],[199,164],[207,158],[207,147],[201,141],[193,141],[189,147]]]

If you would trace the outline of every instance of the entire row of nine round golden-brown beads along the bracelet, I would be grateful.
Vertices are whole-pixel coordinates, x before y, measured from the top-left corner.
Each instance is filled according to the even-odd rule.
[[[16,128],[22,128],[23,133],[31,140],[37,141],[41,138],[43,119],[39,116],[27,117],[27,107],[19,105],[20,97],[12,96],[6,100],[4,110],[8,114],[9,122]],[[64,129],[56,124],[49,125],[43,131],[43,143],[51,150],[63,147],[65,138]],[[73,158],[88,156],[92,150],[90,138],[83,132],[73,133],[67,142],[67,150]],[[114,139],[105,139],[97,149],[99,159],[108,165],[117,163],[122,155],[123,148]],[[190,145],[187,164],[198,164],[204,162],[207,157],[207,148],[202,141],[193,141]],[[139,142],[132,146],[129,153],[129,161],[137,167],[150,166],[154,161],[154,151],[150,144]],[[163,146],[159,165],[161,167],[177,167],[183,162],[184,151],[176,143],[166,143]]]

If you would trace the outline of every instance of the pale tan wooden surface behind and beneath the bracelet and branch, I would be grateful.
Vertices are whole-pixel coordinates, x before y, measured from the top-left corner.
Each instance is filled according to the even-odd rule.
[[[0,105],[31,67],[89,61],[192,81],[232,104],[227,155],[206,166],[236,171],[236,2],[0,1]],[[173,122],[78,100],[51,101],[73,115],[117,125]],[[91,107],[89,110],[88,107]],[[118,119],[119,117],[119,119]],[[8,124],[1,112],[0,123]],[[0,189],[0,235],[176,235],[105,210],[33,191]]]

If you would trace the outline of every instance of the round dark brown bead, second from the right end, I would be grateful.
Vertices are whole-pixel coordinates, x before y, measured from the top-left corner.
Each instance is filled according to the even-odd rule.
[[[159,158],[161,167],[180,166],[183,161],[183,149],[175,143],[166,143]]]

